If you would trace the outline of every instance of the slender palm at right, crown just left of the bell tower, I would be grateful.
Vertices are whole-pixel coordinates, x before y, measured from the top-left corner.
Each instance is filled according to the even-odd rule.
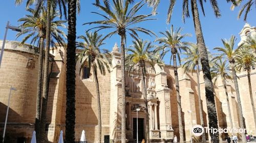
[[[215,47],[214,50],[220,52],[219,58],[224,58],[225,60],[229,61],[232,71],[232,79],[234,81],[234,88],[236,89],[237,100],[238,100],[238,111],[239,111],[239,123],[240,128],[244,129],[244,122],[243,122],[243,112],[242,112],[242,104],[240,99],[240,92],[238,86],[238,79],[237,73],[235,69],[235,58],[238,54],[238,50],[243,46],[243,44],[239,45],[237,49],[234,49],[234,45],[237,38],[235,36],[231,36],[229,40],[222,39],[222,43],[224,47]],[[242,141],[245,143],[245,134],[242,134]]]

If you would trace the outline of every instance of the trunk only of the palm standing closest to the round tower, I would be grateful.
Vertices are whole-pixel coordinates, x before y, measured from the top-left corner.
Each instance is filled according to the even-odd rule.
[[[35,132],[36,139],[40,138],[40,117],[41,117],[41,87],[42,87],[42,61],[44,57],[44,38],[40,38],[39,60],[38,60],[38,79],[36,94],[36,114],[35,114]]]

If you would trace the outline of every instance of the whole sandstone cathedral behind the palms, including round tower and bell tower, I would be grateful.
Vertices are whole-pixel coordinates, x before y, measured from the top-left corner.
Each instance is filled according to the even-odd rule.
[[[256,34],[256,28],[246,23],[240,32],[241,41],[247,34]],[[0,41],[0,45],[3,41]],[[121,139],[121,69],[120,53],[117,44],[114,45],[112,70],[105,76],[98,74],[102,141],[119,142]],[[30,142],[34,130],[36,112],[36,85],[38,71],[38,54],[36,47],[30,45],[20,46],[18,42],[8,41],[0,68],[0,134],[3,133],[6,109],[8,105],[10,87],[12,91],[10,109],[7,121],[6,137],[11,142],[24,140]],[[76,125],[75,138],[80,140],[82,130],[86,131],[88,142],[97,142],[98,118],[96,88],[93,73],[78,62],[76,65]],[[165,65],[160,68],[155,65],[156,71],[146,65],[146,92],[148,105],[144,104],[142,96],[141,75],[136,68],[126,74],[126,138],[128,141],[141,141],[145,138],[145,106],[148,107],[150,118],[150,138],[153,142],[167,142],[179,137],[178,107],[176,98],[174,68]],[[204,125],[208,126],[208,116],[205,99],[205,89],[202,71],[200,82],[197,83],[196,73],[184,73],[178,68],[180,97],[184,137],[190,141],[190,129],[200,125],[199,102],[202,103]],[[239,89],[245,128],[248,134],[256,135],[246,71],[238,73]],[[59,133],[65,133],[66,115],[66,49],[57,46],[51,51],[49,97],[47,104],[47,138],[49,142],[57,142]],[[256,70],[251,70],[251,85],[254,103],[256,103]],[[229,106],[234,128],[240,128],[236,91],[232,81],[227,82]],[[198,91],[200,86],[201,91]],[[217,81],[215,88],[215,104],[220,128],[230,127],[227,100],[221,81]],[[201,93],[201,99],[198,98]],[[255,107],[256,108],[256,107]],[[137,109],[140,109],[137,111]],[[138,124],[138,131],[137,131]],[[207,139],[210,139],[209,134]],[[193,135],[192,135],[193,136]],[[240,136],[238,134],[238,136]],[[220,134],[220,139],[225,137]],[[198,137],[193,136],[196,142]],[[24,142],[23,141],[23,142]]]

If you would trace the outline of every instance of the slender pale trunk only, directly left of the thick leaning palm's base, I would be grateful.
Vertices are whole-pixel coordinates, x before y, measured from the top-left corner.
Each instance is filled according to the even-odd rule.
[[[199,103],[200,123],[201,123],[201,126],[204,129],[203,108],[202,108],[202,103],[201,103],[200,81],[199,81],[199,65],[198,64],[197,64],[197,90],[198,90],[198,103]],[[205,131],[203,132],[203,135],[202,135],[202,141],[203,141],[203,143],[206,142]]]

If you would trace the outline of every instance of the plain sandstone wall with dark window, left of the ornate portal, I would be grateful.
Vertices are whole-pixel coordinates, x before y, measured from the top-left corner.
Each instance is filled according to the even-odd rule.
[[[64,63],[66,63],[66,55]],[[81,65],[76,65],[76,125],[75,141],[80,141],[82,130],[86,131],[86,139],[90,142],[97,142],[98,138],[98,111],[96,87],[92,75],[89,79],[82,79],[82,72],[79,72]],[[63,71],[66,70],[62,68]],[[61,70],[62,71],[62,70]],[[106,72],[103,76],[98,70],[100,102],[101,102],[101,124],[102,124],[102,141],[104,135],[109,135],[109,114],[110,114],[110,74]],[[66,86],[65,76],[62,79],[63,86]],[[66,89],[62,91],[62,108],[60,116],[60,129],[65,136],[65,119],[66,119]]]

